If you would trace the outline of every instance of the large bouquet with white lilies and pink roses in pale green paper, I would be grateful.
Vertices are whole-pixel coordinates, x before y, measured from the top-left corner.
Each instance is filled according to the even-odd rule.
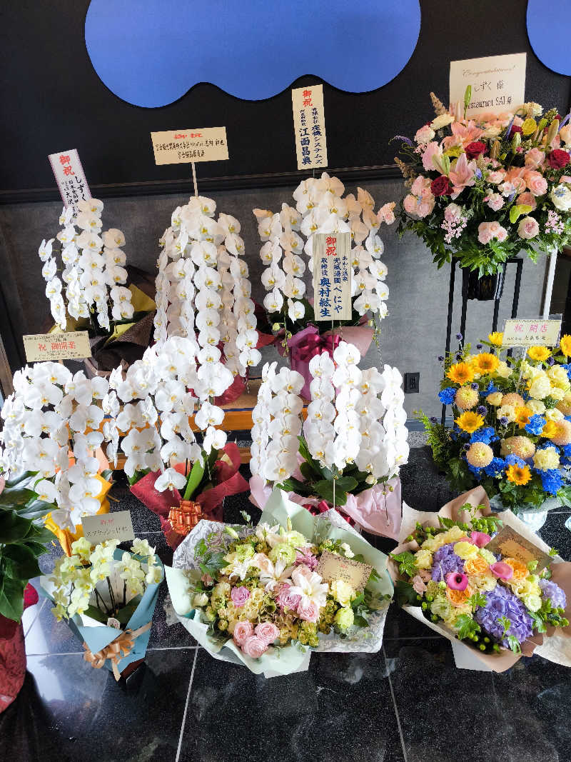
[[[257,527],[201,521],[166,573],[199,644],[269,677],[306,669],[311,651],[378,652],[386,564],[335,511],[314,517],[276,489]]]

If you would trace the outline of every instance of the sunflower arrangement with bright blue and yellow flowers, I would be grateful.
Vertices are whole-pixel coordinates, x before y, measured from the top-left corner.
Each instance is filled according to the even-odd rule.
[[[502,358],[501,334],[489,338],[498,355],[467,345],[444,358],[439,399],[454,424],[421,416],[435,463],[452,488],[481,484],[500,510],[539,510],[548,498],[569,505],[571,336],[519,359]]]

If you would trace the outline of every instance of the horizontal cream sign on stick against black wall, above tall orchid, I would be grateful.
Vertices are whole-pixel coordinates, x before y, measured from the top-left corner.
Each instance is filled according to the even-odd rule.
[[[225,127],[151,133],[155,164],[220,162],[228,158]]]

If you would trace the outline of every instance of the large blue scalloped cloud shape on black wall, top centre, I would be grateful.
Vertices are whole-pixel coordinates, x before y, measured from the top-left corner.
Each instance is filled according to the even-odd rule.
[[[85,18],[97,75],[148,108],[198,82],[249,101],[302,75],[375,90],[404,69],[419,31],[418,0],[91,0]]]

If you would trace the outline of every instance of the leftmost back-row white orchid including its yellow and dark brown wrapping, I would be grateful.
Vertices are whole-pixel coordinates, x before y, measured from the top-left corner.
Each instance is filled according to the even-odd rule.
[[[94,198],[80,200],[77,210],[64,207],[62,229],[55,239],[44,239],[38,251],[54,330],[88,330],[94,355],[87,363],[91,375],[111,370],[97,356],[116,341],[129,343],[129,355],[140,357],[151,337],[155,310],[154,301],[135,283],[126,286],[125,236],[116,228],[102,232],[103,208]],[[135,280],[144,288],[139,277]]]

